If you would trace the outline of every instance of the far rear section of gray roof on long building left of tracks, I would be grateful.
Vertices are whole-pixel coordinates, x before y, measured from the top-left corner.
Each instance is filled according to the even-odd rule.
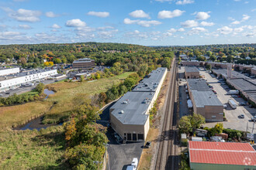
[[[153,70],[144,77],[144,80],[134,87],[133,91],[154,92],[164,76],[165,70],[167,70],[167,68],[164,67],[159,67],[157,70]]]

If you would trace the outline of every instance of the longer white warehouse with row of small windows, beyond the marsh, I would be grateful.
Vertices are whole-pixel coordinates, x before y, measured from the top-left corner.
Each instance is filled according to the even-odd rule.
[[[22,83],[36,82],[57,74],[57,70],[33,70],[13,75],[0,76],[0,92],[19,87]]]

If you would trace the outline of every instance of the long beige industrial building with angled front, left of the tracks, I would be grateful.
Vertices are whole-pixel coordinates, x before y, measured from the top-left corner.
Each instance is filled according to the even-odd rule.
[[[149,111],[157,100],[166,76],[166,68],[157,68],[109,109],[112,128],[125,141],[145,141],[150,128]]]

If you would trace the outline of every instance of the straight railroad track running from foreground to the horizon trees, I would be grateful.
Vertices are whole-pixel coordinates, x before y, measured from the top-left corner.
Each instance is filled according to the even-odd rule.
[[[177,61],[174,60],[171,67],[171,81],[168,90],[166,110],[164,112],[164,124],[159,138],[159,148],[155,162],[156,170],[178,169],[177,156],[177,131],[176,131],[176,112],[177,112]]]

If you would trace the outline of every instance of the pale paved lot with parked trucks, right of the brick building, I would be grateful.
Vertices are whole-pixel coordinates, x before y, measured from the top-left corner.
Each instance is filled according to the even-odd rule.
[[[240,131],[251,131],[253,122],[251,121],[251,117],[256,114],[255,108],[250,108],[247,106],[240,106],[240,103],[246,102],[241,97],[232,97],[227,94],[227,85],[221,85],[218,83],[219,80],[216,77],[212,77],[206,71],[200,70],[200,74],[205,76],[207,83],[210,86],[213,86],[213,90],[216,91],[216,96],[223,104],[227,104],[229,99],[233,99],[237,104],[237,109],[232,109],[230,104],[227,104],[227,108],[224,109],[225,116],[227,117],[227,121],[223,121],[224,128],[237,129]],[[244,114],[244,118],[240,118],[239,115]],[[205,126],[213,127],[216,123],[206,123]],[[254,128],[255,132],[255,128]]]

